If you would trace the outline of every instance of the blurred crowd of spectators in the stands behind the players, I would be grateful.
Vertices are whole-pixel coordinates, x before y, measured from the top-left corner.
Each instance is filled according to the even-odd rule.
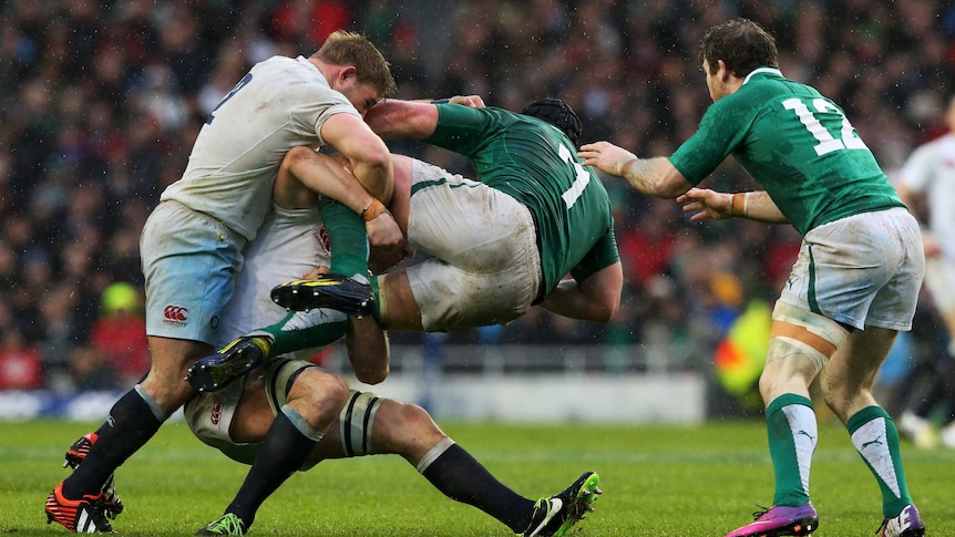
[[[939,0],[0,3],[0,389],[112,388],[146,371],[140,230],[253,63],[309,55],[345,28],[382,50],[399,97],[480,94],[521,110],[559,96],[582,116],[584,141],[659,156],[709,104],[702,31],[739,16],[776,34],[783,74],[846,110],[890,176],[938,134],[955,92],[955,9]],[[418,143],[392,148],[468,172]],[[708,182],[753,187],[732,162]],[[799,247],[788,226],[695,224],[672,200],[606,185],[626,273],[614,322],[534,310],[448,341],[640,345],[667,349],[672,368],[709,368],[740,312],[774,299]],[[931,309],[922,319],[917,335],[937,338]]]

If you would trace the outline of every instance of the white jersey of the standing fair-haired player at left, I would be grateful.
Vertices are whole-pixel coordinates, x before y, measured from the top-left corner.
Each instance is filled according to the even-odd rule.
[[[324,145],[321,125],[341,113],[361,117],[305,56],[257,63],[213,111],[183,177],[161,199],[205,213],[251,240],[285,154]]]

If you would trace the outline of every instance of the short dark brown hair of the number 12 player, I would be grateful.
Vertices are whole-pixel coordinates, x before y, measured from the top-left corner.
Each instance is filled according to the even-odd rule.
[[[704,34],[698,61],[707,62],[710,73],[722,60],[727,70],[742,78],[757,68],[779,68],[776,39],[749,19],[733,19],[717,24]]]

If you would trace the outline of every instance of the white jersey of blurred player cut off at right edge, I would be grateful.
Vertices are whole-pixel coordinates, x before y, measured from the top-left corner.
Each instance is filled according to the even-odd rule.
[[[955,134],[917,147],[900,169],[898,182],[925,194],[928,230],[944,256],[955,260]]]

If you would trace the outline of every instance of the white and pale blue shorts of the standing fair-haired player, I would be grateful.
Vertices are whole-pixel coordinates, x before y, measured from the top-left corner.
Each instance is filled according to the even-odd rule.
[[[163,202],[140,237],[146,280],[146,333],[220,342],[223,308],[243,265],[245,238],[178,202]]]

